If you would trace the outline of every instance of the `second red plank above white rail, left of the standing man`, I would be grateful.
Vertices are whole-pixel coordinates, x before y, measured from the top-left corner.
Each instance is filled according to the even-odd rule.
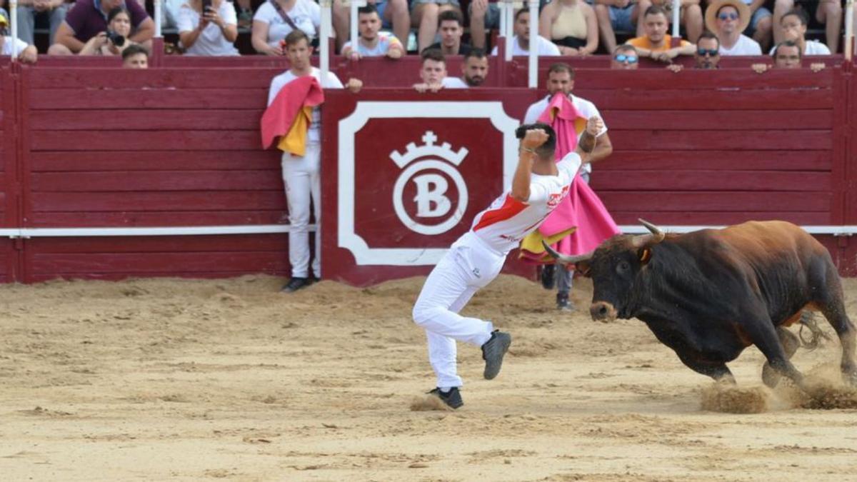
[[[33,193],[33,214],[43,211],[209,211],[285,210],[282,191],[209,191],[115,193]]]

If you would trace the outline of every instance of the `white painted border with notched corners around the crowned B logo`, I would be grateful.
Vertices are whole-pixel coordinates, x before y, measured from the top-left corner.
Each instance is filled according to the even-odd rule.
[[[518,120],[509,117],[500,101],[473,102],[357,102],[354,112],[339,121],[340,248],[350,250],[358,265],[423,266],[440,261],[446,248],[370,248],[354,229],[354,136],[372,118],[488,118],[503,133],[503,189],[512,185],[518,163]]]

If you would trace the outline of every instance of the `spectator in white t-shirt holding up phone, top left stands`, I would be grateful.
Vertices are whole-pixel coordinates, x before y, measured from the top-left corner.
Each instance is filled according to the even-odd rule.
[[[186,55],[238,55],[238,17],[226,0],[190,0],[178,15],[178,38]]]

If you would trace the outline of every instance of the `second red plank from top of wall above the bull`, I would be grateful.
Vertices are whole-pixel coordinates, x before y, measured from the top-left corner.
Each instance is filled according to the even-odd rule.
[[[794,111],[801,109],[830,109],[834,98],[830,90],[782,90],[703,92],[688,95],[686,90],[668,89],[639,92],[627,89],[593,90],[575,88],[574,94],[588,99],[598,109],[611,110],[690,110],[690,111],[734,111],[770,109],[771,111]],[[788,101],[784,101],[788,99]],[[656,123],[653,116],[650,123]]]

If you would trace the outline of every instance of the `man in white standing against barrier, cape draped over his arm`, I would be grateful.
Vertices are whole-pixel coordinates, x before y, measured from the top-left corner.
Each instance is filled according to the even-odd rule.
[[[292,30],[285,36],[285,55],[289,57],[291,69],[277,75],[271,81],[268,91],[268,105],[277,98],[280,89],[298,77],[313,75],[322,88],[343,88],[342,82],[333,72],[327,72],[321,78],[321,70],[309,63],[312,47],[309,37],[303,30]],[[357,93],[363,87],[363,82],[349,79],[345,88]],[[283,182],[285,183],[285,198],[289,204],[289,262],[291,264],[291,280],[283,286],[284,292],[296,292],[304,286],[309,286],[309,200],[312,198],[313,213],[315,214],[315,259],[313,259],[313,274],[321,278],[321,109],[315,107],[312,120],[307,132],[306,153],[301,156],[283,153]]]

